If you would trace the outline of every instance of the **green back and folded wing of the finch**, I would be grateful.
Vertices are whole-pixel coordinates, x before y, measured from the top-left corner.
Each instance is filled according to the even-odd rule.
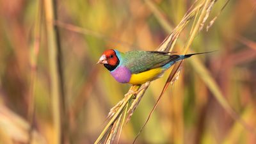
[[[123,65],[132,74],[138,74],[145,72],[152,68],[162,67],[170,61],[177,60],[179,55],[169,55],[169,52],[157,52],[157,51],[129,51],[125,52],[125,61]]]

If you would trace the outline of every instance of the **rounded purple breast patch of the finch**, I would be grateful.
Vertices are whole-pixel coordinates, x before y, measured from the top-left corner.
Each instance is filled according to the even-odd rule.
[[[110,73],[119,83],[128,83],[132,76],[131,71],[123,66],[117,67]]]

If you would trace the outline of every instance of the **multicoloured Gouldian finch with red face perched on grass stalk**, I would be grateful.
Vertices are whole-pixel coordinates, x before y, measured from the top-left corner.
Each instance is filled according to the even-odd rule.
[[[177,61],[195,54],[172,55],[163,51],[120,52],[108,49],[103,52],[98,63],[103,64],[119,83],[140,85],[154,81]]]

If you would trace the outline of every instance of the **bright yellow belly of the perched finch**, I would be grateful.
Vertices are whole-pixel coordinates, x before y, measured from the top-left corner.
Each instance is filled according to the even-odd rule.
[[[163,69],[161,67],[147,70],[138,74],[132,74],[129,83],[143,84],[147,81],[153,81],[154,79],[157,79],[157,77],[161,76],[161,74],[163,74]]]

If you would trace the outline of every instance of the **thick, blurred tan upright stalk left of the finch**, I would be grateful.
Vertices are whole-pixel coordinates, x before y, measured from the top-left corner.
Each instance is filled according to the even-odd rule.
[[[61,114],[64,109],[61,109],[61,77],[59,74],[58,60],[58,35],[56,33],[56,28],[54,28],[54,20],[56,19],[56,8],[54,8],[54,1],[44,0],[44,12],[46,20],[46,30],[47,30],[47,44],[49,49],[49,67],[50,67],[50,77],[51,77],[51,97],[52,97],[52,118],[54,127],[54,144],[61,143]]]

